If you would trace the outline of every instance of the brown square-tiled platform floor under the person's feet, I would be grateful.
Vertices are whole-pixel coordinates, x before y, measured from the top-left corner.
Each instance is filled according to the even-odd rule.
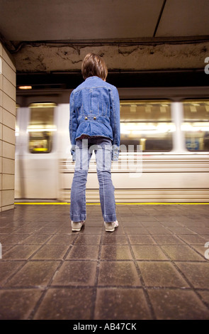
[[[113,233],[99,205],[81,232],[69,205],[1,212],[0,319],[209,319],[209,205],[117,212]]]

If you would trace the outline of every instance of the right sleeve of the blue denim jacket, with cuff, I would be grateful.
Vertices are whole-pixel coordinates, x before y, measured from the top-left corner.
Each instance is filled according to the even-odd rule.
[[[120,146],[120,99],[118,90],[111,90],[111,127],[113,129],[112,161],[118,161]]]

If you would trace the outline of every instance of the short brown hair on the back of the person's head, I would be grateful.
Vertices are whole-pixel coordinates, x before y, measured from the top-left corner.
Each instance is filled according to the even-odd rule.
[[[108,75],[108,68],[106,67],[106,63],[100,57],[100,55],[96,55],[95,53],[88,53],[83,60],[81,66],[81,72],[86,80],[87,77],[101,77],[102,80],[106,80]]]

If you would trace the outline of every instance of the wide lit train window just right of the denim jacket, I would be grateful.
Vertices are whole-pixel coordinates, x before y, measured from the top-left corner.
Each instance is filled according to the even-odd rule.
[[[169,101],[120,101],[120,145],[142,151],[171,151],[171,104]]]

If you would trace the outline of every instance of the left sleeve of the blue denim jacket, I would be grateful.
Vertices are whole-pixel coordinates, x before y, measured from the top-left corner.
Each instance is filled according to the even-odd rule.
[[[72,160],[75,161],[75,145],[76,145],[76,134],[77,134],[77,118],[74,109],[74,92],[71,93],[69,98],[69,138],[71,141],[71,154]]]

